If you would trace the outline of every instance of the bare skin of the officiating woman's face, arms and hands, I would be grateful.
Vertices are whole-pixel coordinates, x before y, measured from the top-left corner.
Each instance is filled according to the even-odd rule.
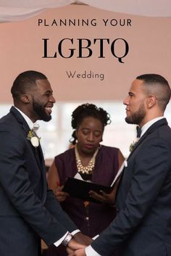
[[[85,117],[78,126],[76,136],[78,139],[78,152],[83,166],[88,165],[94,152],[99,147],[99,144],[102,141],[103,131],[104,128],[101,121],[91,116]],[[118,153],[118,158],[121,164],[124,161],[124,157],[120,151]],[[59,184],[57,167],[54,162],[49,170],[48,182],[49,187],[54,191],[59,202],[63,202],[67,197],[70,197],[70,194],[62,191],[63,186],[60,186]],[[116,189],[117,186],[114,186],[114,189],[110,194],[107,194],[104,191],[100,191],[100,193],[89,191],[89,194],[99,202],[114,205]]]

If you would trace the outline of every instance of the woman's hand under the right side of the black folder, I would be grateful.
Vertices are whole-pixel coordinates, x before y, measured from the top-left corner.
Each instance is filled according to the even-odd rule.
[[[116,188],[112,190],[111,193],[107,194],[104,191],[100,191],[100,193],[96,193],[95,191],[91,190],[89,191],[89,194],[94,199],[98,200],[99,202],[103,202],[108,205],[114,206],[115,199],[116,199]]]

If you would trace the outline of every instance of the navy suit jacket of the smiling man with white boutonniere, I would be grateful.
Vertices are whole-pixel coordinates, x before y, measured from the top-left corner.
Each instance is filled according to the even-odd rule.
[[[76,229],[47,189],[41,147],[27,139],[30,128],[14,107],[0,120],[0,255],[37,256],[46,244]],[[37,152],[36,152],[37,151]]]

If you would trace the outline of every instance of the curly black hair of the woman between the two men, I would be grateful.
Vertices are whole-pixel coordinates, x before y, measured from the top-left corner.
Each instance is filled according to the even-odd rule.
[[[76,144],[76,129],[79,127],[79,125],[82,123],[83,119],[85,117],[94,117],[98,119],[103,127],[111,123],[110,115],[107,113],[106,110],[102,109],[101,107],[96,107],[95,104],[82,104],[78,106],[73,112],[72,112],[72,120],[71,125],[72,128],[75,129],[72,133],[72,139],[70,139],[70,143],[73,145]]]

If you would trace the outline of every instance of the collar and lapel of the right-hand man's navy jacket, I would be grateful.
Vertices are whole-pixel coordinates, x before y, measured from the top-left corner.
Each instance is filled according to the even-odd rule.
[[[135,152],[135,149],[137,149],[137,147],[141,144],[141,142],[146,139],[146,136],[148,136],[150,133],[153,133],[157,128],[159,128],[160,126],[163,125],[168,125],[166,118],[162,118],[161,120],[158,120],[157,122],[155,122],[153,125],[151,125],[149,127],[149,129],[147,129],[147,131],[143,134],[143,136],[141,136],[141,138],[138,140],[137,144],[135,144],[135,147],[133,148],[133,150],[130,152],[128,159],[130,158],[130,156],[133,154],[133,152]]]

